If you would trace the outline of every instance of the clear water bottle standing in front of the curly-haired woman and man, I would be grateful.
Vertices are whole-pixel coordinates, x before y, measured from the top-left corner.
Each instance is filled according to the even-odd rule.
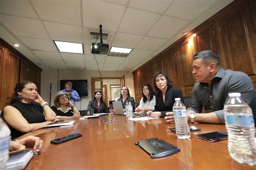
[[[186,106],[180,101],[180,98],[175,98],[175,103],[172,107],[176,134],[179,139],[190,138],[190,128],[187,124]]]

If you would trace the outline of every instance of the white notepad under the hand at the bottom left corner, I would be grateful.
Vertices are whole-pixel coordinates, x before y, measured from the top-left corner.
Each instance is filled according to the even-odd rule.
[[[34,155],[32,149],[25,149],[24,151],[10,154],[6,162],[6,169],[24,169]]]

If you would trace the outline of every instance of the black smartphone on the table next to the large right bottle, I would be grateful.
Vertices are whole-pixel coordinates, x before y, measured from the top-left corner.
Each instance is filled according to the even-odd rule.
[[[227,139],[227,133],[220,132],[220,131],[210,132],[210,133],[198,134],[197,138],[203,139],[209,142],[215,142],[215,141]]]

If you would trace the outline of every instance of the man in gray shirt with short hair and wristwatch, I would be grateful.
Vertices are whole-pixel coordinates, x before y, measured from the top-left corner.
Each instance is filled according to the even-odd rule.
[[[241,93],[241,98],[251,106],[255,119],[256,99],[252,80],[243,72],[224,70],[218,53],[206,50],[193,55],[192,74],[197,83],[187,113],[193,114],[194,121],[225,124],[223,107],[228,93],[233,92]],[[200,113],[203,107],[206,113]],[[173,123],[172,112],[166,115],[165,119]]]

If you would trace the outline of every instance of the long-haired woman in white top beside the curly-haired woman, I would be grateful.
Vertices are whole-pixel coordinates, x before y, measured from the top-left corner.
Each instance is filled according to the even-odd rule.
[[[154,105],[156,105],[156,96],[154,96],[154,91],[149,84],[142,86],[143,98],[139,102],[139,106],[135,108],[136,112],[141,111],[153,111]]]

